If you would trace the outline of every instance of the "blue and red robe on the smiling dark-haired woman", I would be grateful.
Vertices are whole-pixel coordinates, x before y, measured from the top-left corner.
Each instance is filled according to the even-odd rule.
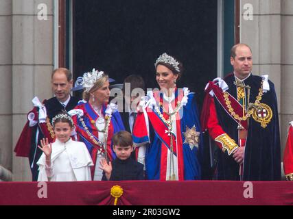
[[[178,89],[179,90],[179,89]],[[162,95],[154,93],[156,105],[162,104]],[[196,129],[200,134],[200,121],[198,120],[198,110],[194,94],[187,95],[188,101],[176,114],[176,130],[173,131],[173,155],[177,160],[176,180],[195,180],[200,179],[200,149],[202,148],[201,135],[198,136],[198,145],[191,146],[185,141],[184,133],[187,129]],[[171,102],[172,110],[176,108],[178,101],[183,99],[183,90],[175,92],[175,98]],[[163,106],[167,110],[169,103],[163,101]],[[163,112],[161,114],[168,119],[169,116]],[[167,125],[160,118],[154,108],[146,107],[143,112],[139,112],[134,124],[133,141],[134,145],[146,146],[145,151],[145,173],[147,179],[168,180],[169,179],[169,155],[171,152],[171,140],[167,133]]]

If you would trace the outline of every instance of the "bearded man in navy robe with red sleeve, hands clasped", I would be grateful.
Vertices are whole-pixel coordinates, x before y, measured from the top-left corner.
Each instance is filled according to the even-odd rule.
[[[281,179],[277,97],[268,75],[251,73],[246,44],[231,49],[234,72],[210,81],[205,90],[202,129],[218,146],[215,179]],[[219,150],[220,149],[220,150]]]

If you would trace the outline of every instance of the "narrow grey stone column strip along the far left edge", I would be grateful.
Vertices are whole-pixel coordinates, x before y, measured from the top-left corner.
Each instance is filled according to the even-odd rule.
[[[0,165],[12,170],[12,2],[0,1]],[[0,171],[0,172],[3,172]],[[1,175],[1,174],[0,174]],[[0,180],[2,175],[0,177]],[[4,179],[3,179],[4,180]],[[7,180],[7,179],[5,179]]]

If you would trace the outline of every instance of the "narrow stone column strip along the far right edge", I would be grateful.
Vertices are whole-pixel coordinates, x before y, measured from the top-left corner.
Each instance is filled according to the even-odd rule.
[[[281,142],[282,149],[293,120],[293,1],[281,0]],[[283,155],[283,150],[282,150]]]

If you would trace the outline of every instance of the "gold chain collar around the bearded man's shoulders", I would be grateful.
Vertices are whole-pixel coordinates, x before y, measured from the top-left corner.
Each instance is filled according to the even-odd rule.
[[[238,114],[236,114],[234,112],[234,108],[231,106],[231,101],[229,99],[229,94],[228,92],[224,92],[224,99],[225,99],[225,103],[226,103],[226,107],[228,108],[228,111],[231,113],[231,116],[233,116],[235,118],[235,120],[247,120],[248,118],[250,118],[250,116],[253,114],[253,112],[255,112],[255,107],[257,107],[261,101],[261,96],[263,96],[263,81],[261,81],[261,88],[259,88],[259,94],[257,95],[257,98],[255,100],[255,103],[250,104],[253,107],[250,107],[250,109],[248,108],[248,112],[240,117]]]

